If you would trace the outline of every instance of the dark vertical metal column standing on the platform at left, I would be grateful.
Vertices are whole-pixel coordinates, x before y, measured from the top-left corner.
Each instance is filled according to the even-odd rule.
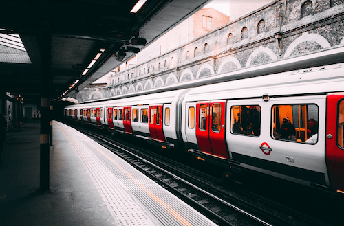
[[[50,168],[50,65],[51,35],[41,36],[41,153],[40,153],[40,188],[49,190]]]

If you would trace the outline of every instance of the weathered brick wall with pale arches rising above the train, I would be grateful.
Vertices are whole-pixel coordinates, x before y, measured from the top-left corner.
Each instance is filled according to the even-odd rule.
[[[302,6],[308,1],[312,13],[301,16]],[[264,29],[260,29],[261,21]],[[247,37],[241,39],[244,27]],[[281,51],[277,34],[281,37]],[[251,14],[114,75],[118,82],[104,87],[100,93],[105,98],[153,89],[340,45],[344,45],[344,0],[270,1]],[[92,96],[92,89],[87,92],[87,97]],[[98,94],[94,93],[94,97]]]

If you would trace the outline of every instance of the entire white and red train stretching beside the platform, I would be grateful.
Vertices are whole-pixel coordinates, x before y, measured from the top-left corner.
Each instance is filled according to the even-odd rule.
[[[65,106],[66,120],[344,194],[344,63]]]

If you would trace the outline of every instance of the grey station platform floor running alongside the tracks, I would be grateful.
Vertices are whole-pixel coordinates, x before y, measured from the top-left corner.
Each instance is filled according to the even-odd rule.
[[[10,131],[0,166],[0,225],[215,225],[128,163],[54,122],[50,191],[39,190],[40,122]]]

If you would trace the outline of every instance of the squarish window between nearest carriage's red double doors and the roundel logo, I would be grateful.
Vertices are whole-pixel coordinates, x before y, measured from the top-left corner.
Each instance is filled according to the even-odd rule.
[[[260,135],[261,108],[259,105],[232,106],[230,132],[239,135]]]

